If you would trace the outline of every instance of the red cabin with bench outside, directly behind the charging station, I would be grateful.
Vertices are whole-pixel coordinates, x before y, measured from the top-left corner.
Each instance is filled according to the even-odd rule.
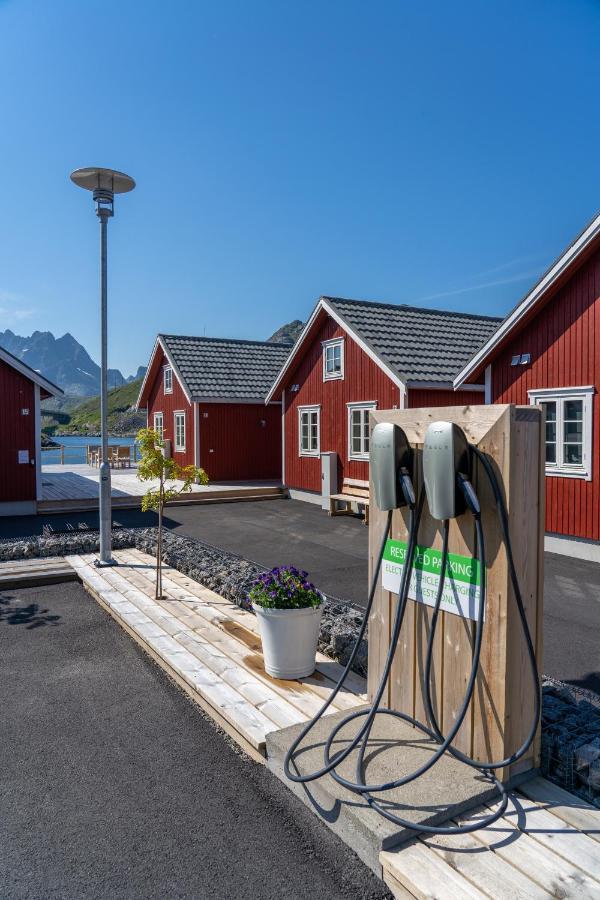
[[[291,496],[324,503],[323,453],[337,459],[331,493],[344,478],[368,479],[370,409],[483,403],[483,384],[457,397],[452,381],[499,322],[321,297],[267,396],[282,401],[283,482]]]

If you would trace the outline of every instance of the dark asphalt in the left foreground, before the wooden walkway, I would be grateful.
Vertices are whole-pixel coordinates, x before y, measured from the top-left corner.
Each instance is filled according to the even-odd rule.
[[[2,900],[389,897],[78,584],[0,594]]]

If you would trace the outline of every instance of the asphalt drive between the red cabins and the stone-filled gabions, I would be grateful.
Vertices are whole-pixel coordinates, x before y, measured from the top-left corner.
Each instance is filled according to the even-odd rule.
[[[97,514],[0,519],[0,536],[41,533],[44,523],[97,525]],[[154,525],[154,513],[115,512],[115,522]],[[364,606],[368,528],[358,518],[330,518],[298,500],[170,507],[166,526],[264,566],[293,563],[326,594]],[[545,556],[544,659],[547,675],[600,694],[600,565]]]

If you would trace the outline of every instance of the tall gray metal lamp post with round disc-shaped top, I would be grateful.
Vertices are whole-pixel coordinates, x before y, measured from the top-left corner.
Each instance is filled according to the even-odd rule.
[[[78,187],[93,191],[96,215],[100,221],[100,431],[102,435],[102,463],[100,465],[100,559],[99,566],[112,566],[111,552],[111,491],[110,464],[108,462],[108,354],[107,354],[107,303],[106,303],[106,237],[108,220],[114,214],[115,194],[132,191],[135,181],[123,172],[113,169],[76,169],[71,181]]]

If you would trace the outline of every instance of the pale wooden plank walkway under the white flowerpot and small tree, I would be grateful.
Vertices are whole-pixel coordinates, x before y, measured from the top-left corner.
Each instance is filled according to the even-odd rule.
[[[304,722],[320,708],[341,667],[319,654],[309,678],[282,681],[264,669],[256,618],[176,569],[163,569],[162,601],[154,599],[154,560],[118,550],[114,568],[93,555],[68,561],[86,589],[169,674],[255,759],[264,758],[269,731]],[[365,702],[353,676],[331,712]]]

